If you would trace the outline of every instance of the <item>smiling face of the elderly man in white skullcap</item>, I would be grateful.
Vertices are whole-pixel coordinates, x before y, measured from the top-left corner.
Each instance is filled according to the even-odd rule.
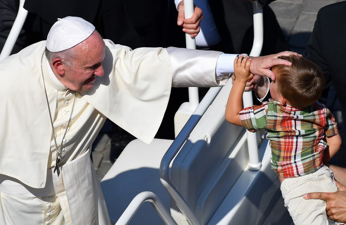
[[[76,46],[76,57],[71,66],[65,66],[62,84],[74,91],[88,91],[93,87],[96,77],[103,76],[102,61],[105,56],[104,42],[96,33]]]

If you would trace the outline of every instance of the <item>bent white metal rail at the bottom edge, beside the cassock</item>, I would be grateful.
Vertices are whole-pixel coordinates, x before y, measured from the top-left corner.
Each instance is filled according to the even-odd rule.
[[[124,213],[118,219],[116,225],[126,225],[130,222],[130,219],[135,215],[138,208],[144,203],[150,202],[155,208],[158,215],[166,225],[176,225],[173,217],[167,211],[166,207],[163,205],[161,200],[152,192],[141,192],[127,206]]]

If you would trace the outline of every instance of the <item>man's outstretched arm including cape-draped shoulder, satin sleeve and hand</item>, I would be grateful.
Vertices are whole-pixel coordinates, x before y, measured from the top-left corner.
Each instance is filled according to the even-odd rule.
[[[93,89],[80,94],[103,115],[145,143],[152,141],[161,124],[171,87],[225,85],[234,72],[233,61],[237,56],[174,47],[131,50],[110,40],[105,43],[104,75],[95,80]],[[252,63],[259,66],[250,68],[251,72],[270,74],[269,68],[277,63],[289,64],[276,57],[252,58]]]

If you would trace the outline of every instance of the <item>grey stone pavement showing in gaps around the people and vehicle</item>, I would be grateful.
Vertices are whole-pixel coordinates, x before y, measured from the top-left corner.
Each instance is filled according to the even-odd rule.
[[[291,51],[304,52],[318,10],[328,4],[339,1],[342,0],[276,0],[270,4],[288,40]],[[333,89],[330,91],[327,105],[339,124],[342,124],[342,121],[340,121],[341,106],[335,99]],[[92,158],[99,180],[112,166],[109,160],[111,135],[112,125],[107,121],[93,144]]]

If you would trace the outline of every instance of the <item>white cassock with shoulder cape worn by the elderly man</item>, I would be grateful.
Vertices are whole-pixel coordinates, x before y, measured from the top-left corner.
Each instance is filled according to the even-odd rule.
[[[50,74],[45,56],[41,63],[45,41],[0,62],[0,224],[109,224],[90,160],[91,145],[106,118],[150,143],[172,86],[211,87],[227,80],[215,78],[221,52],[177,48],[132,51],[104,41],[104,75],[97,77],[90,91],[76,96],[63,140],[59,177],[52,173],[56,150],[42,72],[58,147],[74,91]]]

